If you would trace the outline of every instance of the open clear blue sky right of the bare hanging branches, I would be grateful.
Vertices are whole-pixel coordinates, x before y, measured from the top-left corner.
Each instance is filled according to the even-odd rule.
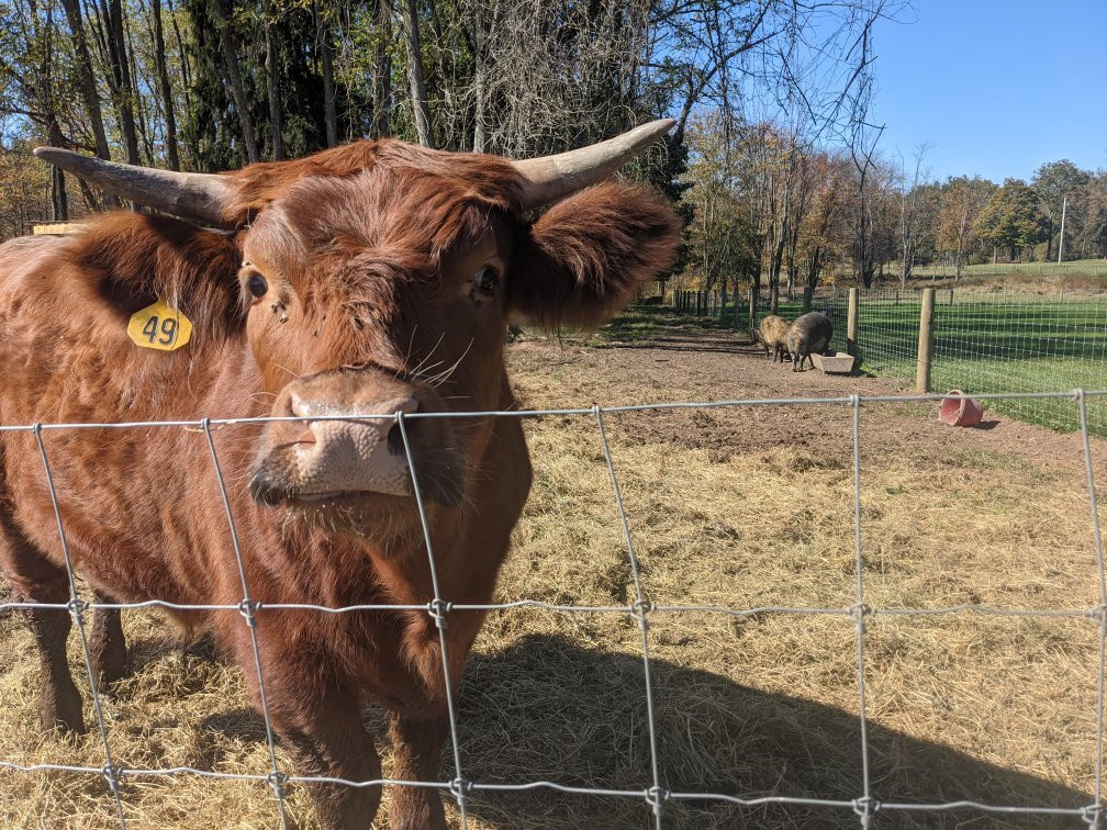
[[[944,179],[1030,179],[1068,158],[1107,168],[1107,0],[914,0],[876,31],[886,155]]]

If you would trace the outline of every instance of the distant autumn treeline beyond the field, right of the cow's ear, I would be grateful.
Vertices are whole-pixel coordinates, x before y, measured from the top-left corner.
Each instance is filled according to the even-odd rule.
[[[879,129],[826,148],[799,122],[751,123],[726,110],[690,124],[691,250],[681,284],[737,288],[767,281],[809,300],[828,274],[871,286],[894,267],[1107,257],[1107,170],[1043,164],[1030,183],[958,176],[928,181],[925,147],[892,160]]]

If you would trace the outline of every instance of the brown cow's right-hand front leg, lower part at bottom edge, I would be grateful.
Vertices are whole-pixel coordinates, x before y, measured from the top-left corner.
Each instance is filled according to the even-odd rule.
[[[389,735],[392,738],[393,778],[402,781],[438,779],[442,747],[449,736],[447,716],[415,718],[393,710],[389,713]],[[445,828],[441,795],[431,787],[393,787],[389,827],[391,830]]]

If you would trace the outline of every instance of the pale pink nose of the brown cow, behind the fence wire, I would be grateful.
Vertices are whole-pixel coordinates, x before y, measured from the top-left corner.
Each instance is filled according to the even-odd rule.
[[[413,413],[418,402],[397,396],[356,406],[340,406],[293,392],[289,411],[311,418],[314,442],[301,442],[296,464],[302,496],[339,492],[411,495],[411,476],[402,445],[389,439],[396,413]],[[391,446],[390,446],[391,445]]]

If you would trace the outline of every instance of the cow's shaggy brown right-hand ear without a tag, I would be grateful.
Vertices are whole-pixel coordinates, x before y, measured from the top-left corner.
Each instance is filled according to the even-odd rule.
[[[670,264],[681,220],[664,199],[608,183],[557,203],[516,246],[507,308],[559,330],[607,322]]]

